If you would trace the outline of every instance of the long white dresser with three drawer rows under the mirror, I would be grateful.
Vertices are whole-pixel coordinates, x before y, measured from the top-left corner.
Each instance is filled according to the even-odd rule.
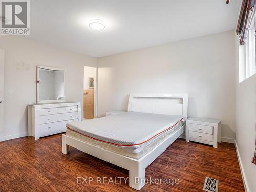
[[[35,139],[65,132],[67,123],[80,120],[80,102],[28,105],[28,135]]]

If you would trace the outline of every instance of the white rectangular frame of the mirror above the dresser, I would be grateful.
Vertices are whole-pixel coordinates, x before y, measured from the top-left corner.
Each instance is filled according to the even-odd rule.
[[[54,71],[63,71],[64,72],[64,99],[62,100],[40,100],[39,96],[39,68],[41,69],[47,69],[47,70],[54,70]],[[65,95],[65,69],[64,68],[55,68],[55,67],[48,67],[48,66],[37,66],[37,103],[56,103],[56,102],[65,102],[66,101],[66,95]]]

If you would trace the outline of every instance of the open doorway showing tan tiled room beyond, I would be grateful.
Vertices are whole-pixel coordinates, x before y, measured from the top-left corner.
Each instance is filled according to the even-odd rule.
[[[83,119],[97,116],[97,68],[84,66],[83,73]]]

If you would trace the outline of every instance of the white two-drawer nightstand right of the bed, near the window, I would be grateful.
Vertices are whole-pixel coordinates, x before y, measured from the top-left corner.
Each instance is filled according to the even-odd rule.
[[[218,142],[221,142],[221,120],[188,118],[186,120],[186,141],[195,141],[218,148]]]

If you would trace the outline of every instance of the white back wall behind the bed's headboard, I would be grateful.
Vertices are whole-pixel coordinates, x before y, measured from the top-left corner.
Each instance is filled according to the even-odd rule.
[[[188,93],[188,116],[222,119],[233,138],[233,66],[233,31],[99,58],[98,114],[127,110],[130,93]]]

